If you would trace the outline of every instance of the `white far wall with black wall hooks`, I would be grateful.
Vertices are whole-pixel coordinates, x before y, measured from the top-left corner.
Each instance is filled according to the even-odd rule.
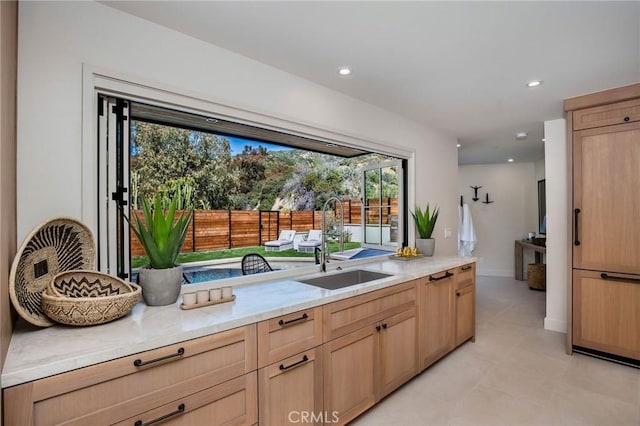
[[[473,255],[479,275],[514,276],[514,241],[538,230],[537,182],[534,163],[458,168],[458,194],[469,204],[478,240]],[[470,186],[482,186],[479,201],[472,200]],[[481,202],[487,192],[494,203]]]

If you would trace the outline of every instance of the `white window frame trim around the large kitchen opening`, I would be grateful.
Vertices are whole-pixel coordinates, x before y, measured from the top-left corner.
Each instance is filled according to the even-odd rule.
[[[266,114],[250,110],[240,105],[232,105],[228,101],[203,97],[183,89],[149,81],[89,64],[82,66],[82,221],[94,234],[99,232],[98,224],[98,93],[165,106],[172,109],[201,115],[211,115],[223,120],[235,121],[250,126],[262,127],[274,131],[290,133],[312,138],[327,143],[338,143],[347,147],[363,149],[386,154],[408,161],[409,188],[415,188],[415,151],[375,141],[371,138],[341,133],[335,130],[318,127],[312,123],[294,121],[284,116]],[[409,205],[415,203],[415,190],[407,194]],[[100,209],[103,209],[100,204]],[[100,215],[106,215],[101,211]],[[415,232],[409,227],[409,241],[414,241]]]

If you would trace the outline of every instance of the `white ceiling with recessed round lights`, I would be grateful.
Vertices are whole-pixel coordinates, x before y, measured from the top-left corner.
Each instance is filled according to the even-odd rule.
[[[640,2],[103,3],[454,135],[460,164],[542,159],[565,98],[640,82]]]

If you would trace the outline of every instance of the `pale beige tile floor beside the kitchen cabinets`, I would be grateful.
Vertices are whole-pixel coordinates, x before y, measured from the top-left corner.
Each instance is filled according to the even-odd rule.
[[[640,369],[565,354],[543,329],[545,293],[478,277],[476,342],[389,395],[357,426],[640,426]]]

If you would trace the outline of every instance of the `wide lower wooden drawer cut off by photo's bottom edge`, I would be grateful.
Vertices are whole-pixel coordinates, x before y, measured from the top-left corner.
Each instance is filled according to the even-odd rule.
[[[256,372],[176,399],[156,409],[131,417],[118,426],[218,426],[252,425],[258,421]],[[162,419],[162,420],[161,420]]]

